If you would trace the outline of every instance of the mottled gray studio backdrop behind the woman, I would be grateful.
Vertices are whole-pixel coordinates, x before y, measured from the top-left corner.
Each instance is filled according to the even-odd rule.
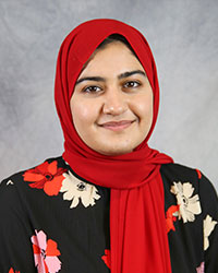
[[[62,153],[57,55],[72,28],[95,17],[145,35],[161,88],[149,144],[202,169],[218,189],[217,0],[0,0],[0,179]]]

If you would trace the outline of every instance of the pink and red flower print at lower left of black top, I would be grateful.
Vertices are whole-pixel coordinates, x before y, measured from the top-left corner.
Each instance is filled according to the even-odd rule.
[[[56,273],[61,270],[61,261],[58,259],[60,251],[55,240],[48,239],[46,234],[40,230],[36,236],[32,236],[34,260],[38,273]]]

